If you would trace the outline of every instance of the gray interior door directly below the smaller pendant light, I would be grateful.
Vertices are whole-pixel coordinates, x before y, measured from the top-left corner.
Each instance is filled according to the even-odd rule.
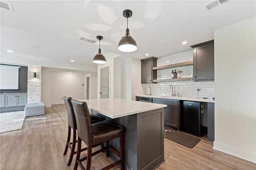
[[[100,69],[100,98],[109,98],[109,66]]]

